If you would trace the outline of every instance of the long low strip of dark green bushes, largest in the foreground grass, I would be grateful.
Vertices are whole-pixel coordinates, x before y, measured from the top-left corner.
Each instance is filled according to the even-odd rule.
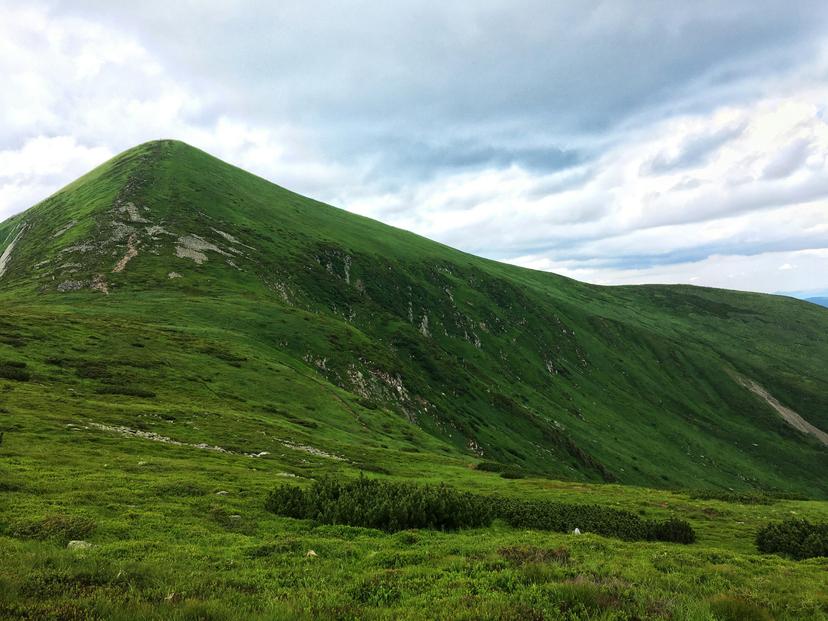
[[[696,540],[693,528],[684,520],[643,520],[629,511],[598,505],[484,496],[444,484],[416,485],[364,476],[349,481],[325,478],[308,488],[281,485],[270,492],[266,507],[286,517],[385,531],[456,530],[488,526],[502,519],[515,528],[558,532],[579,528],[628,541]]]

